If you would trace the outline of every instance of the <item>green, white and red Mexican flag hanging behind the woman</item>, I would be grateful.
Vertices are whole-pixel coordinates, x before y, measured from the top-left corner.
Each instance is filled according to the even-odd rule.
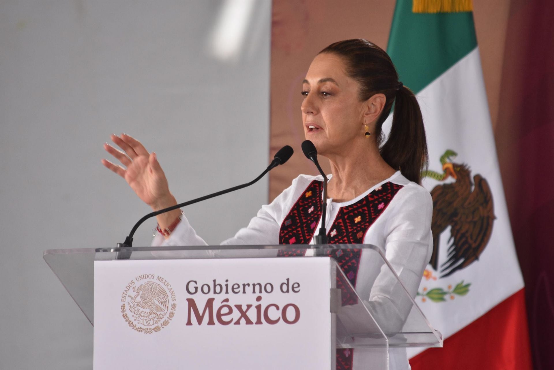
[[[416,301],[444,348],[413,369],[530,369],[512,239],[471,1],[397,0],[387,53],[417,95],[429,147],[434,252]],[[524,191],[524,190],[522,190]]]

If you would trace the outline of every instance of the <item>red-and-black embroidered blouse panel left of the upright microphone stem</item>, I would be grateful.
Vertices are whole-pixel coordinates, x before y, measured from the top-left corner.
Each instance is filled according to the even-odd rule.
[[[281,224],[279,244],[309,244],[321,217],[323,183],[312,181]]]

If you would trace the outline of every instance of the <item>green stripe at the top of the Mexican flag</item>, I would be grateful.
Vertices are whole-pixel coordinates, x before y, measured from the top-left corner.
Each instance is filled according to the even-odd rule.
[[[387,53],[414,93],[476,46],[473,13],[415,14],[412,0],[397,0]]]

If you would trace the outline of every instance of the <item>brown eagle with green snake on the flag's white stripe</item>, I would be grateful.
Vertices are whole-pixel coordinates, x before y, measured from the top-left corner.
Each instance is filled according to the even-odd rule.
[[[493,194],[487,181],[477,174],[471,180],[471,171],[466,164],[452,161],[458,154],[447,150],[440,157],[443,173],[424,171],[423,176],[449,184],[437,185],[431,191],[433,198],[433,255],[430,265],[438,271],[440,234],[450,226],[447,261],[440,265],[441,277],[469,266],[479,259],[493,232]]]

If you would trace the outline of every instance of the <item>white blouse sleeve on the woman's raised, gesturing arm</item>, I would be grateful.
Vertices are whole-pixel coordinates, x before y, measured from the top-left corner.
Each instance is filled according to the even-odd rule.
[[[300,177],[300,176],[299,176]],[[293,184],[279,194],[269,205],[261,206],[258,214],[250,220],[247,227],[243,227],[234,237],[223,241],[222,245],[274,245],[279,244],[279,230],[284,219],[286,205],[293,199],[299,178],[293,180]],[[229,211],[230,213],[230,211]],[[183,215],[179,225],[173,230],[171,236],[165,239],[156,233],[152,246],[181,246],[181,245],[207,245],[202,237],[196,234],[187,217]]]

